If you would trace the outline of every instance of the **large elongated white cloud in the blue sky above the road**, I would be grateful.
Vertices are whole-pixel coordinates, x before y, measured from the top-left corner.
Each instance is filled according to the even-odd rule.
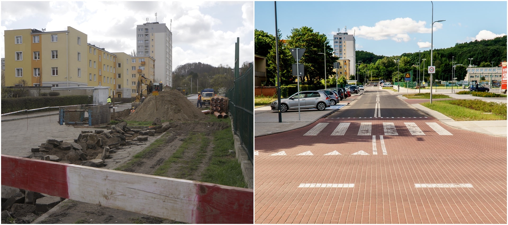
[[[353,27],[356,36],[370,40],[391,39],[395,42],[408,42],[411,40],[409,34],[430,33],[430,28],[425,27],[427,22],[415,21],[411,18],[396,18],[376,22],[374,26]],[[434,30],[441,29],[441,23],[434,23]]]

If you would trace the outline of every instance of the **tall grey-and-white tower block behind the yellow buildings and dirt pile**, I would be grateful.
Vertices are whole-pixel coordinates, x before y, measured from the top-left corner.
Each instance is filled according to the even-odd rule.
[[[151,56],[157,61],[155,82],[173,86],[173,35],[166,23],[143,23],[136,27],[136,56]]]

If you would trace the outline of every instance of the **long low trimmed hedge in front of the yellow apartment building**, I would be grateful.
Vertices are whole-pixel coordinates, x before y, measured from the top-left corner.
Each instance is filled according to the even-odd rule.
[[[90,104],[93,104],[93,97],[91,95],[7,98],[2,99],[2,114],[25,109]]]

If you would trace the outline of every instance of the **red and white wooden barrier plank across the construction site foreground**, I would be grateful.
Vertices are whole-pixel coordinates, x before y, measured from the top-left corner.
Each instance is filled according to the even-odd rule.
[[[9,155],[2,185],[187,223],[253,223],[248,188]]]

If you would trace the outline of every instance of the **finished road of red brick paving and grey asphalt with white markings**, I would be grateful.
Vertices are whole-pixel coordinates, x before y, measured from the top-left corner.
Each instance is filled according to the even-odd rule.
[[[377,87],[255,143],[256,223],[506,223],[506,138],[448,127]]]

